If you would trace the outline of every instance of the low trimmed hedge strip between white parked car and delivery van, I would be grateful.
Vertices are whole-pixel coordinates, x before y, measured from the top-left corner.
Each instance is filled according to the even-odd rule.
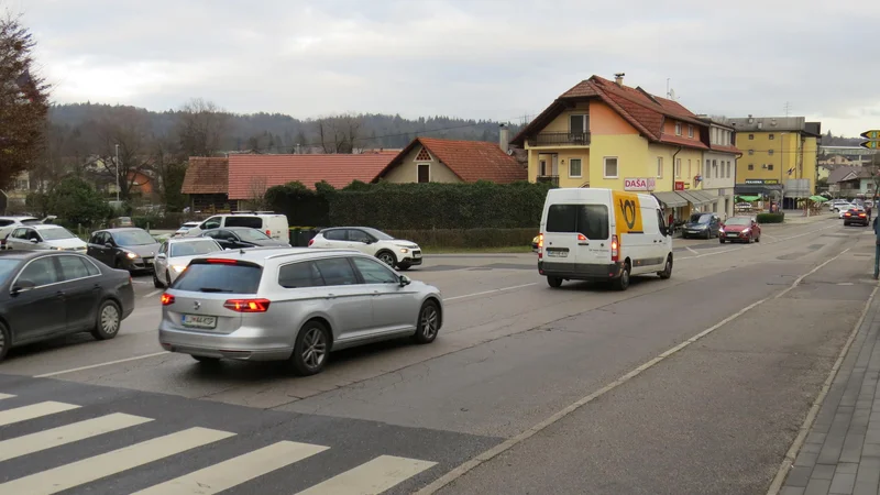
[[[531,245],[538,227],[529,229],[387,230],[396,239],[431,248],[509,248]]]

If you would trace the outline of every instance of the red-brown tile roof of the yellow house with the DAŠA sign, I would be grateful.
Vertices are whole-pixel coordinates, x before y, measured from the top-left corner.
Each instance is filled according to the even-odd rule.
[[[524,128],[513,140],[512,144],[522,144],[526,136],[540,132],[541,129],[552,121],[564,108],[565,103],[572,99],[597,98],[613,108],[620,117],[626,119],[629,124],[636,128],[646,139],[656,143],[667,142],[669,144],[682,145],[705,150],[707,146],[700,140],[680,139],[667,140],[663,134],[663,122],[667,118],[692,123],[705,128],[707,124],[681,106],[680,103],[650,95],[641,88],[630,88],[618,86],[598,76],[583,80],[573,88],[560,95],[541,114]],[[674,141],[674,143],[672,142]]]

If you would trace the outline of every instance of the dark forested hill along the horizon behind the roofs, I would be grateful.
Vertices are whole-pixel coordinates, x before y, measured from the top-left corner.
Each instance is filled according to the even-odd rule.
[[[79,128],[88,127],[114,113],[132,110],[148,121],[156,135],[172,133],[177,122],[176,111],[154,112],[132,107],[120,107],[100,103],[74,103],[53,106],[50,116],[52,123],[76,133]],[[488,120],[465,120],[449,117],[427,117],[416,120],[404,119],[399,114],[362,114],[358,119],[358,147],[404,147],[417,135],[471,141],[497,141],[498,122]],[[260,148],[267,153],[292,153],[297,144],[316,145],[317,123],[314,120],[300,120],[282,113],[230,114],[229,130],[224,150],[244,151],[258,142]],[[519,130],[510,127],[512,136]]]

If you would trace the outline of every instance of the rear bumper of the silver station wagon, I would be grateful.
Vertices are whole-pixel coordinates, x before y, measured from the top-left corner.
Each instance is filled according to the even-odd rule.
[[[158,343],[170,352],[242,361],[283,361],[294,352],[292,345],[277,337],[256,336],[258,329],[243,327],[232,333],[209,333],[169,327],[162,322]],[[252,337],[246,337],[249,333]]]

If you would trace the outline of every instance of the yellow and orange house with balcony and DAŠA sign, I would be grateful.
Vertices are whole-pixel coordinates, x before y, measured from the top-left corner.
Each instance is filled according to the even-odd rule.
[[[710,124],[675,101],[593,76],[562,94],[512,141],[528,152],[530,182],[651,191],[683,218],[714,210],[702,189]]]

